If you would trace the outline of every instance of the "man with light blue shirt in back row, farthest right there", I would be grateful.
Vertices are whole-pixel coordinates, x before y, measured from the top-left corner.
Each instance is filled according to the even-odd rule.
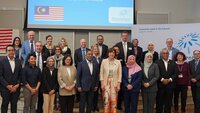
[[[173,39],[172,38],[166,39],[166,45],[167,45],[167,49],[169,51],[169,59],[173,60],[174,56],[176,55],[177,52],[179,52],[179,50],[173,47]]]

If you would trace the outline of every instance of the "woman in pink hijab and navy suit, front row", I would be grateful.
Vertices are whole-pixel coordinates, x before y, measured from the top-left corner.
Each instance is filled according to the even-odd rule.
[[[130,55],[122,69],[125,113],[137,113],[137,103],[141,87],[142,71],[136,63],[136,57]]]

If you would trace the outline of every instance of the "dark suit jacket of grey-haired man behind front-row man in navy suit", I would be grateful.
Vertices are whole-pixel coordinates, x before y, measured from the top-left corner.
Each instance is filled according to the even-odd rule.
[[[89,49],[86,48],[86,53],[87,53],[88,50]],[[83,61],[82,50],[81,50],[81,48],[78,48],[78,49],[75,50],[75,53],[74,53],[74,62],[75,62],[76,67],[82,61]]]

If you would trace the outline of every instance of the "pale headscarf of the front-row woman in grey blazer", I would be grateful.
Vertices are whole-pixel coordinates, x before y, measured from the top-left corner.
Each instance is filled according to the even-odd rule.
[[[145,58],[144,58],[144,73],[145,75],[147,76],[148,78],[148,71],[149,71],[149,67],[151,66],[151,64],[153,63],[153,59],[152,59],[152,62],[147,62],[147,57],[148,56],[151,56],[153,57],[153,54],[148,52],[145,54]]]

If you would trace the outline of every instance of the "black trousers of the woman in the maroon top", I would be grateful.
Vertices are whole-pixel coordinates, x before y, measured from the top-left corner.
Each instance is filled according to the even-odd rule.
[[[185,112],[187,100],[187,85],[176,85],[174,89],[174,109],[178,111],[179,94],[181,94],[181,112]]]

